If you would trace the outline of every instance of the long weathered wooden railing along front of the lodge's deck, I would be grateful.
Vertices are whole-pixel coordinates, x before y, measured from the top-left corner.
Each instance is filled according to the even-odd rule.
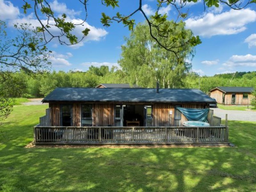
[[[53,127],[35,126],[35,143],[221,143],[226,126],[211,127]]]

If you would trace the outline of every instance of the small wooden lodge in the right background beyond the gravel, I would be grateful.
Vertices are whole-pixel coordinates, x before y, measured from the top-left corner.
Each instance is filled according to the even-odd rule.
[[[216,87],[210,91],[217,103],[251,105],[253,87]]]

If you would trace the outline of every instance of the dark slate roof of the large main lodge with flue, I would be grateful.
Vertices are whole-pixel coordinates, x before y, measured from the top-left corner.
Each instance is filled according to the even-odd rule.
[[[43,102],[196,102],[215,103],[198,89],[56,88]]]

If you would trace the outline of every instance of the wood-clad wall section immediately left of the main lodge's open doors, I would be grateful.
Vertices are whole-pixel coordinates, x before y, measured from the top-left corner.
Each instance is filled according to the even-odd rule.
[[[114,104],[94,103],[92,105],[92,125],[114,125]]]

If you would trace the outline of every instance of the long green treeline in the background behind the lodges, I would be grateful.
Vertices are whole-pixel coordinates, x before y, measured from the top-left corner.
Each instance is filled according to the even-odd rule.
[[[243,75],[241,75],[243,74]],[[24,71],[14,72],[12,76],[12,93],[10,97],[44,97],[56,87],[95,87],[101,83],[127,83],[130,76],[122,70],[108,66],[91,66],[86,72],[53,71],[28,75]],[[235,74],[221,74],[199,77],[196,73],[187,74],[183,85],[176,88],[200,87],[208,93],[217,86],[245,86],[255,87],[256,72],[237,72]],[[138,84],[140,87],[152,87],[147,81]],[[160,82],[161,87],[161,82]]]

